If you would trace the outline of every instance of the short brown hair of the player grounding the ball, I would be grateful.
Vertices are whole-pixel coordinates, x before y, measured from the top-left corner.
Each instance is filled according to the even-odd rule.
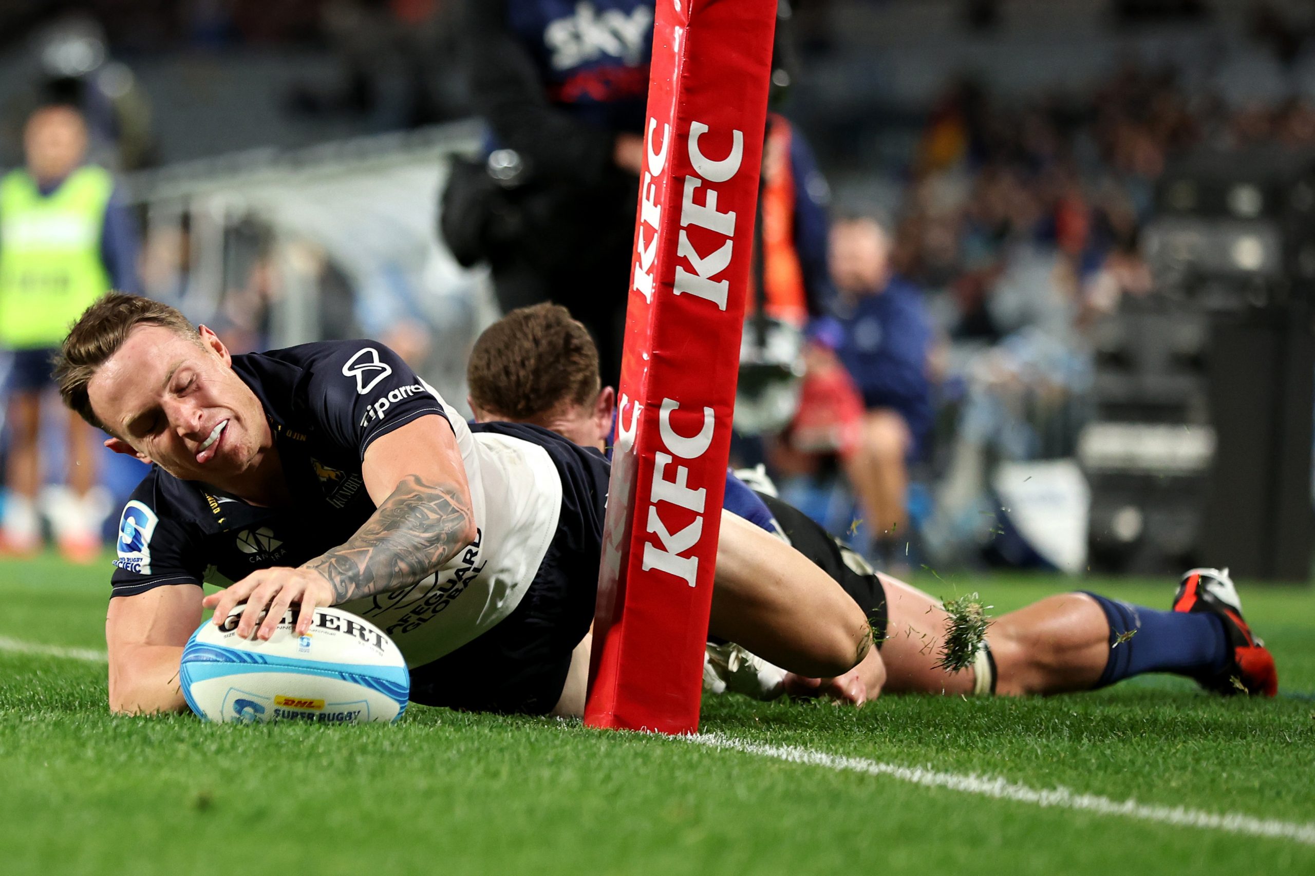
[[[139,325],[160,325],[200,343],[196,326],[178,308],[139,295],[109,292],[83,312],[55,355],[59,396],[97,429],[105,425],[91,409],[87,384]]]

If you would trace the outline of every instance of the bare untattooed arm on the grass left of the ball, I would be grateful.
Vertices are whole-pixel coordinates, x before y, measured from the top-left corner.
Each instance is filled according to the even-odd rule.
[[[201,588],[156,587],[116,596],[105,617],[109,710],[122,714],[187,712],[178,681],[183,646],[201,622]]]

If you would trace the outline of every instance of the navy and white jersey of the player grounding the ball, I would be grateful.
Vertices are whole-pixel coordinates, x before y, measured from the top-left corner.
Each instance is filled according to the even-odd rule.
[[[443,417],[455,433],[475,542],[418,584],[343,605],[393,637],[408,663],[438,659],[508,617],[559,535],[564,506],[581,518],[571,521],[580,550],[601,545],[601,454],[533,426],[468,426],[383,345],[309,343],[234,356],[233,368],[264,408],[293,502],[260,508],[153,468],[120,518],[113,596],[225,585],[345,543],[375,512],[366,450],[425,416]]]

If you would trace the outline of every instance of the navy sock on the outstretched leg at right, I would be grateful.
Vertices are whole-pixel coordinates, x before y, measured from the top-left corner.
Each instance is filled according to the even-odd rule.
[[[1095,687],[1143,672],[1173,672],[1187,677],[1220,672],[1228,660],[1224,622],[1208,612],[1159,612],[1082,591],[1110,621],[1110,660]]]

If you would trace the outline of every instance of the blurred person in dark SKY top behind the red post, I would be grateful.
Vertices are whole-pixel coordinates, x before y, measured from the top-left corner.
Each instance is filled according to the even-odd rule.
[[[565,305],[615,383],[654,0],[469,0],[466,16],[497,182],[480,167],[454,172],[444,237],[464,263],[488,262],[504,310]]]

